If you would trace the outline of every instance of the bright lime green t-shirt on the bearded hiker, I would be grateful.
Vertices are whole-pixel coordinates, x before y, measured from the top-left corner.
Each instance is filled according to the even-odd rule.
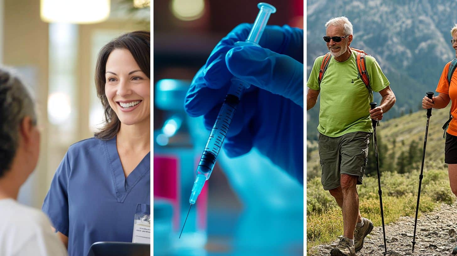
[[[339,137],[352,132],[373,132],[370,119],[370,102],[373,96],[358,76],[356,52],[344,62],[330,59],[322,81],[318,83],[319,69],[324,56],[314,60],[307,86],[320,90],[319,133],[329,137]],[[366,56],[370,86],[373,91],[381,91],[390,82],[372,56]]]

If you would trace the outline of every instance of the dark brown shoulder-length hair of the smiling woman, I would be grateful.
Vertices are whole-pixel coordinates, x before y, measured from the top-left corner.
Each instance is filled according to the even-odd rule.
[[[134,31],[123,34],[107,43],[98,53],[95,68],[95,85],[97,96],[105,109],[105,126],[96,132],[94,136],[102,140],[114,138],[121,128],[121,121],[117,118],[116,112],[110,107],[105,95],[106,61],[114,49],[127,49],[132,53],[133,59],[135,59],[141,71],[150,79],[151,33],[149,31]]]

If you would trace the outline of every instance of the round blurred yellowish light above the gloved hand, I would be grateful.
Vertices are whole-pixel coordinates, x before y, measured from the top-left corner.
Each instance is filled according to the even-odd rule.
[[[203,16],[204,0],[172,0],[171,11],[176,18],[183,21],[193,21]]]

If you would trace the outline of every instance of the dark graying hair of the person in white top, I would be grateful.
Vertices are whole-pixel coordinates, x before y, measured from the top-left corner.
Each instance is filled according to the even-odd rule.
[[[0,67],[0,178],[11,168],[19,146],[19,128],[27,116],[37,124],[29,89],[13,70]]]

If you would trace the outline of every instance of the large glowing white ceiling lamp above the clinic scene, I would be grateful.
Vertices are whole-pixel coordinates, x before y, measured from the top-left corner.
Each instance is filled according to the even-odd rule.
[[[41,0],[40,14],[49,23],[97,23],[110,15],[110,0]]]

